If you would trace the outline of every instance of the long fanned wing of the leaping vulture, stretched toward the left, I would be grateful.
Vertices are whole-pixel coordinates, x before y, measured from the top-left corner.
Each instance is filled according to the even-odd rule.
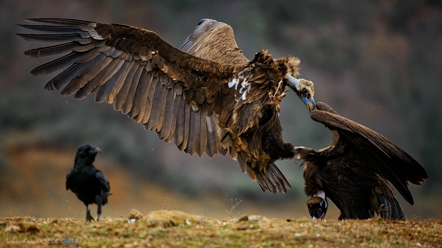
[[[64,87],[61,95],[75,95],[76,99],[95,93],[96,102],[113,104],[115,110],[143,124],[146,130],[155,130],[160,139],[173,140],[180,150],[199,156],[205,152],[210,157],[220,153],[225,133],[220,126],[227,123],[235,104],[236,89],[227,83],[236,80],[235,76],[245,65],[228,64],[228,59],[218,58],[220,62],[216,62],[194,56],[173,47],[152,31],[133,26],[70,19],[26,21],[39,25],[19,26],[45,34],[18,36],[28,41],[58,43],[26,51],[26,55],[67,53],[31,71],[42,75],[67,67],[46,84],[46,89]],[[225,25],[215,27],[226,29]],[[204,35],[211,36],[211,32],[203,32],[198,39],[195,38],[198,33],[201,32],[190,37],[189,49],[192,40],[198,43]],[[231,34],[227,48],[232,48],[233,33],[221,33]],[[203,50],[198,52],[202,53]],[[235,63],[246,62],[238,54],[234,57]]]

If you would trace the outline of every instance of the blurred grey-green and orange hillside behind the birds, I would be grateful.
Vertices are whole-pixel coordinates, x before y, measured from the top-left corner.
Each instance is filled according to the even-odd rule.
[[[29,72],[51,58],[26,57],[23,51],[44,44],[18,38],[15,33],[26,31],[15,24],[49,17],[143,27],[176,47],[199,20],[211,18],[233,27],[248,58],[262,49],[276,58],[299,57],[301,77],[315,83],[316,101],[381,133],[427,170],[429,181],[410,186],[414,206],[398,196],[407,217],[441,218],[442,1],[91,2],[0,1],[0,217],[84,218],[82,203],[64,191],[65,174],[83,143],[103,150],[96,165],[114,193],[104,216],[126,216],[134,207],[221,219],[230,209],[236,215],[308,216],[300,162],[276,162],[293,189],[270,195],[228,157],[190,156],[110,104],[46,91],[45,83],[55,74],[33,77]],[[294,94],[281,104],[286,142],[313,149],[330,144],[331,132],[311,121]]]

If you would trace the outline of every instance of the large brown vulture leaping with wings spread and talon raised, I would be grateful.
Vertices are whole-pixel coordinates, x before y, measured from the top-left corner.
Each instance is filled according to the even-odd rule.
[[[282,140],[277,112],[288,86],[314,109],[313,84],[296,79],[299,59],[273,59],[267,51],[248,60],[229,25],[204,19],[179,50],[156,33],[127,25],[70,19],[26,19],[19,25],[45,34],[18,34],[58,45],[26,51],[30,57],[58,55],[31,71],[53,73],[45,86],[62,96],[113,104],[147,130],[193,155],[227,151],[262,189],[290,188],[273,163],[292,158]],[[49,34],[47,34],[49,33]]]

